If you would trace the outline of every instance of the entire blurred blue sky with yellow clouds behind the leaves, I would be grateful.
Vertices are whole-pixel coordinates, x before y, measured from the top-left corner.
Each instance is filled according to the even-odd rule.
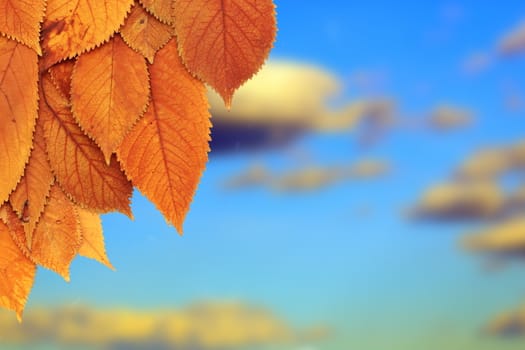
[[[184,236],[135,193],[1,348],[524,348],[525,3],[276,4]]]

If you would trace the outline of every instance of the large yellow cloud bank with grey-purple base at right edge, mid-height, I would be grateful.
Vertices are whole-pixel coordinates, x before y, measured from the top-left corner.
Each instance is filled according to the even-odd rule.
[[[487,221],[525,211],[525,143],[486,147],[443,183],[426,190],[410,216],[432,221]],[[517,186],[509,186],[514,177]],[[505,181],[507,180],[507,181]]]

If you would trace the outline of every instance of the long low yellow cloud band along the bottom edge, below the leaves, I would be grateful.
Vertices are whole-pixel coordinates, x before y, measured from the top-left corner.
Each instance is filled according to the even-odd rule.
[[[328,328],[293,330],[269,310],[239,303],[203,303],[182,310],[34,308],[18,324],[0,312],[0,344],[93,346],[105,349],[237,349],[294,345],[327,338]]]

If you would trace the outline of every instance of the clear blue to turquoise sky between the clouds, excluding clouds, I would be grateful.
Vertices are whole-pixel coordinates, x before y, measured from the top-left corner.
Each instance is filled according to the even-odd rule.
[[[330,330],[285,349],[522,349],[523,339],[481,330],[525,300],[525,265],[487,273],[479,256],[458,247],[475,224],[415,223],[404,212],[475,150],[525,138],[525,110],[505,104],[525,93],[525,58],[497,54],[501,38],[525,20],[525,3],[275,2],[270,62],[336,77],[341,89],[327,108],[387,98],[403,117],[446,104],[471,111],[474,122],[448,132],[392,128],[371,147],[349,129],[305,132],[256,152],[242,143],[212,150],[183,237],[136,192],[133,221],[103,217],[117,271],[79,258],[66,283],[40,269],[26,315],[64,304],[155,310],[239,302],[295,329]],[[475,71],[473,57],[483,58]],[[254,163],[281,172],[370,158],[387,161],[391,173],[296,192],[223,185]]]

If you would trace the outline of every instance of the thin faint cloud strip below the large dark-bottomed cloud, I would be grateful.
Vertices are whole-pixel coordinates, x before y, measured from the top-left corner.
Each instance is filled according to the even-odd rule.
[[[263,165],[256,164],[245,172],[228,179],[227,189],[264,186],[277,192],[304,192],[321,189],[343,181],[374,179],[391,171],[383,160],[365,159],[351,165],[308,166],[275,174]]]

